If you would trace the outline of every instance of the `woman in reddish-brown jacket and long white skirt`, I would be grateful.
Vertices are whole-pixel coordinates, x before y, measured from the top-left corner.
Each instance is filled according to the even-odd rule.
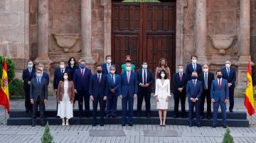
[[[70,80],[68,72],[63,73],[63,80],[58,84],[57,101],[58,116],[62,118],[62,125],[69,125],[68,120],[73,118],[73,102],[75,89],[73,81]]]

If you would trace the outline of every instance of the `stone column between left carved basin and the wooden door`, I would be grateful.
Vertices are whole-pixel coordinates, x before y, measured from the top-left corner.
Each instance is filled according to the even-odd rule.
[[[81,58],[85,59],[87,65],[94,65],[92,59],[92,1],[81,2]]]

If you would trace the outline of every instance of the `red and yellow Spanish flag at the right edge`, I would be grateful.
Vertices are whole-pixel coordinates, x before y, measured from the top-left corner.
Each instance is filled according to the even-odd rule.
[[[247,68],[247,83],[245,87],[245,108],[247,108],[248,114],[252,116],[255,113],[253,103],[253,88],[252,88],[252,69],[250,66],[250,60]]]

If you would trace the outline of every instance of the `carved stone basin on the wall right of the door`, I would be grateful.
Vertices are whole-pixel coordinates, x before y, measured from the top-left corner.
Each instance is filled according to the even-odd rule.
[[[237,40],[236,35],[208,35],[208,38],[215,49],[219,50],[220,55],[225,55],[228,48],[233,47]]]

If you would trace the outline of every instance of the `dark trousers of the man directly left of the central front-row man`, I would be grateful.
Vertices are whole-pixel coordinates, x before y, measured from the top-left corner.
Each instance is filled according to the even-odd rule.
[[[107,115],[117,115],[117,95],[115,93],[107,96]]]

